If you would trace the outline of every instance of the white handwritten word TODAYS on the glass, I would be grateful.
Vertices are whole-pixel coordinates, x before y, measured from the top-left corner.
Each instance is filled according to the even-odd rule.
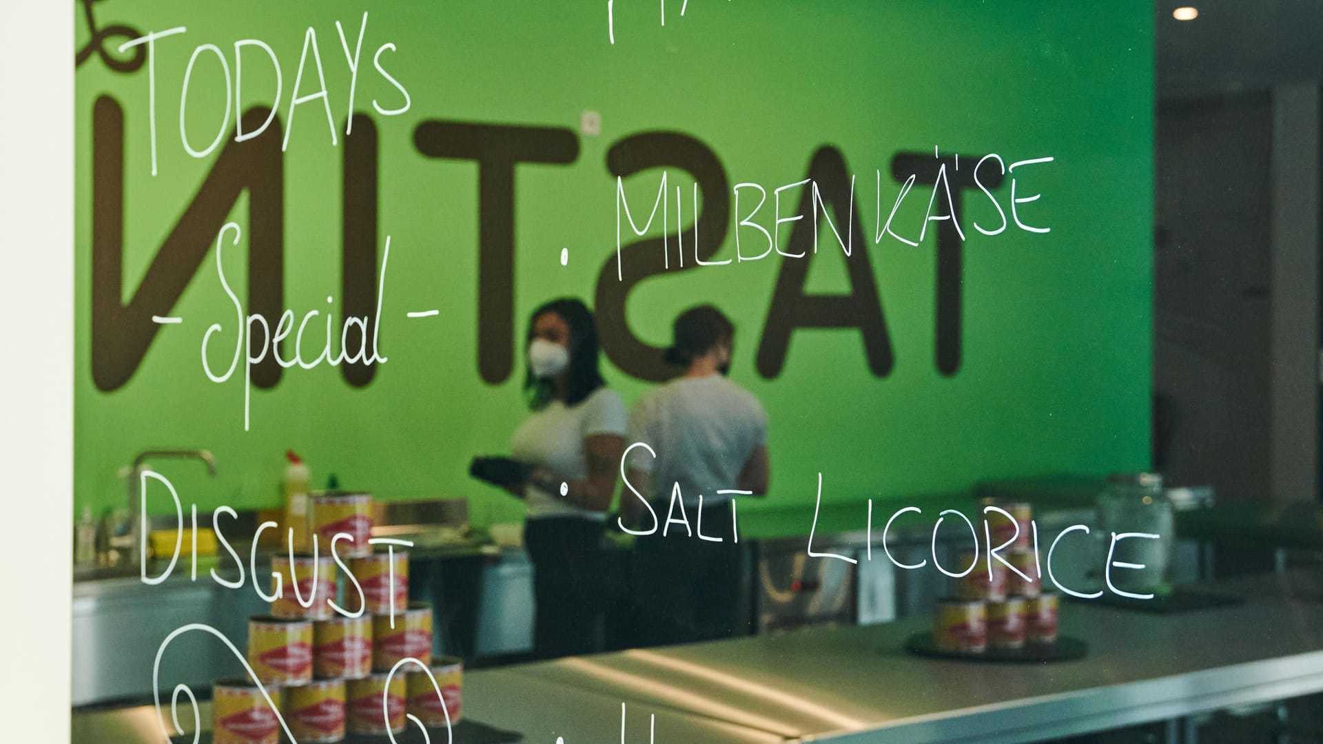
[[[348,37],[345,37],[344,28],[340,25],[340,21],[335,23],[335,29],[336,33],[340,36],[340,49],[344,50],[345,64],[349,66],[349,93],[348,93],[348,105],[345,107],[349,116],[348,116],[348,124],[345,124],[344,130],[345,136],[349,136],[353,128],[353,116],[352,116],[353,97],[359,86],[359,68],[363,53],[363,38],[368,32],[368,13],[366,12],[363,13],[363,23],[359,26],[359,38],[355,42],[353,52],[349,50],[349,40]],[[148,128],[151,131],[153,176],[156,175],[156,139],[157,139],[156,138],[156,44],[157,41],[161,41],[164,38],[183,34],[187,30],[188,30],[187,26],[176,26],[165,30],[153,30],[119,45],[120,52],[127,52],[128,49],[134,49],[142,45],[147,46],[147,120],[148,120]],[[243,101],[242,94],[243,94],[245,46],[255,46],[262,52],[265,52],[271,61],[271,71],[275,75],[275,95],[274,95],[275,101],[273,102],[271,113],[270,115],[267,115],[266,120],[262,122],[261,127],[247,132],[243,131],[242,115],[239,111]],[[382,107],[381,103],[377,102],[377,99],[373,99],[372,107],[376,109],[377,113],[381,114],[382,116],[396,116],[404,114],[405,111],[409,110],[410,106],[409,91],[405,90],[405,86],[398,79],[396,79],[390,73],[388,73],[386,69],[381,65],[381,54],[384,52],[394,52],[394,50],[396,45],[388,41],[381,46],[378,46],[376,54],[373,54],[372,57],[372,66],[376,68],[377,74],[380,74],[388,83],[394,86],[396,90],[400,91],[400,97],[402,98],[402,103],[394,109]],[[189,142],[188,131],[185,130],[184,124],[189,101],[188,83],[192,79],[193,68],[197,66],[198,58],[202,56],[204,52],[210,53],[212,56],[216,57],[216,64],[220,65],[221,73],[225,75],[225,115],[221,116],[220,130],[216,132],[216,136],[212,139],[210,144],[208,144],[201,150],[197,150]],[[311,66],[310,66],[310,60],[311,60]],[[303,83],[304,71],[307,71],[310,79],[308,87],[311,87],[311,79],[314,71],[316,73],[318,79],[316,79],[316,87],[312,89],[312,93],[303,93],[300,95],[300,91],[304,90],[304,83]],[[233,91],[230,90],[232,79],[234,85]],[[193,53],[188,58],[188,66],[184,68],[184,86],[179,94],[179,139],[180,143],[184,146],[184,151],[187,151],[193,158],[206,158],[208,155],[210,155],[225,139],[225,132],[229,128],[232,111],[234,115],[234,142],[245,142],[261,135],[263,131],[267,130],[267,127],[271,126],[271,122],[275,120],[275,114],[280,107],[280,99],[282,99],[280,94],[283,89],[284,89],[284,75],[280,71],[280,60],[275,56],[275,52],[271,49],[271,46],[259,38],[242,38],[234,42],[233,78],[230,77],[230,62],[225,57],[225,53],[221,52],[218,46],[216,46],[214,44],[200,44],[194,46]],[[321,109],[325,111],[327,126],[331,130],[331,144],[336,146],[337,144],[336,124],[331,116],[331,94],[327,90],[325,71],[321,66],[321,53],[318,50],[318,32],[315,28],[308,26],[303,34],[303,53],[299,54],[299,66],[294,75],[294,87],[290,91],[290,105],[284,120],[284,140],[280,144],[282,151],[290,147],[290,134],[294,131],[294,113],[296,107],[302,103],[311,103],[318,99],[321,101]]]

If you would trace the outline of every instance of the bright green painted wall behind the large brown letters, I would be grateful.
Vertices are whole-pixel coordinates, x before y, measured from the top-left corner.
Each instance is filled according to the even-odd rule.
[[[94,103],[108,95],[124,113],[127,302],[216,158],[193,159],[180,144],[180,87],[193,48],[216,44],[233,74],[234,41],[270,44],[283,69],[283,124],[311,25],[339,146],[331,146],[320,103],[300,105],[283,162],[283,306],[302,316],[324,310],[331,294],[339,308],[349,70],[335,21],[352,45],[365,8],[340,0],[97,4],[101,25],[188,30],[160,41],[156,50],[155,177],[147,68],[115,73],[94,54],[75,73],[75,507],[120,503],[124,488],[116,471],[149,446],[216,453],[216,479],[200,477],[193,463],[161,465],[185,504],[274,506],[280,453],[294,447],[319,482],[335,471],[344,485],[381,498],[464,495],[474,499],[478,520],[519,516],[517,503],[466,475],[472,454],[505,449],[525,409],[521,373],[496,385],[479,377],[478,168],[422,156],[414,130],[427,119],[568,127],[578,138],[573,164],[517,171],[519,334],[528,312],[545,299],[591,299],[615,249],[615,179],[606,152],[619,139],[672,130],[701,140],[717,154],[730,184],[767,188],[769,204],[757,217],[765,226],[771,189],[803,179],[820,146],[840,150],[859,179],[856,201],[867,240],[856,250],[871,258],[885,308],[894,351],[888,376],[868,371],[860,334],[849,328],[799,331],[782,373],[757,373],[754,353],[771,290],[782,262],[791,259],[771,256],[664,273],[630,295],[628,323],[655,344],[665,342],[675,314],[697,302],[714,302],[736,319],[733,379],[762,398],[771,421],[774,485],[766,506],[811,503],[818,471],[824,473],[824,498],[847,500],[960,490],[988,477],[1147,465],[1154,97],[1147,1],[695,0],[683,19],[680,3],[668,4],[664,28],[655,3],[617,4],[615,45],[607,41],[603,3],[496,9],[456,0],[366,8],[355,109],[370,113],[374,98],[385,107],[400,105],[398,91],[372,69],[373,53],[386,42],[397,49],[382,54],[382,65],[411,97],[404,115],[372,114],[380,140],[378,246],[386,234],[392,240],[381,324],[389,361],[365,388],[352,388],[325,364],[288,369],[273,389],[254,388],[247,432],[242,380],[212,383],[200,363],[202,334],[221,323],[212,359],[220,369],[228,365],[237,324],[210,253],[168,308],[184,322],[161,328],[127,384],[110,392],[94,384]],[[75,36],[78,46],[89,40],[82,21]],[[243,60],[250,65],[243,107],[270,105],[269,62],[257,49],[245,50]],[[310,69],[300,93],[314,87]],[[224,90],[214,57],[204,53],[188,105],[196,146],[216,132]],[[579,132],[585,110],[601,113],[601,134]],[[1007,163],[1056,159],[1027,168],[1025,191],[1019,192],[1043,195],[1023,209],[1025,222],[1050,226],[1048,234],[1013,224],[999,236],[979,234],[972,222],[995,226],[996,212],[986,199],[966,197],[963,359],[953,376],[934,364],[937,222],[918,248],[872,240],[875,171],[882,172],[885,218],[898,192],[889,177],[892,156],[931,152],[934,146],[943,155],[998,152]],[[971,165],[962,160],[962,168]],[[659,175],[626,180],[636,217],[651,204]],[[671,171],[672,183],[684,185],[688,224],[692,181],[683,176]],[[798,193],[783,210],[794,208]],[[893,229],[916,236],[930,193],[930,187],[917,187]],[[994,193],[1008,208],[1009,179]],[[741,212],[747,208],[742,199]],[[226,275],[241,299],[246,216],[243,196],[230,218],[243,226],[245,238],[225,254]],[[655,226],[652,234],[660,230]],[[741,241],[753,245],[758,237],[741,233]],[[213,245],[216,234],[189,240]],[[569,248],[565,267],[558,261],[562,246]],[[716,258],[733,256],[728,233]],[[807,287],[848,291],[845,262],[833,244],[824,242],[811,261]],[[427,308],[439,308],[441,316],[405,316]],[[605,372],[626,402],[648,385],[611,364]],[[167,506],[153,502],[155,511]]]

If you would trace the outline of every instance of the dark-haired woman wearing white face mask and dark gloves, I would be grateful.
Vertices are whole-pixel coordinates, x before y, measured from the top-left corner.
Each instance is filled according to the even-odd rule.
[[[602,532],[624,453],[624,402],[598,371],[597,324],[582,302],[538,307],[528,342],[533,413],[511,438],[509,458],[475,458],[470,474],[528,503],[534,654],[586,654],[603,637]]]

